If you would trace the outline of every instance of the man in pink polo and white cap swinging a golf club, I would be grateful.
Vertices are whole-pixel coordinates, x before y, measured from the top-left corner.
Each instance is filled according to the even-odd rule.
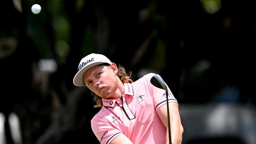
[[[169,143],[165,90],[150,83],[154,75],[146,74],[133,82],[131,73],[101,54],[89,54],[80,61],[73,83],[87,86],[94,96],[94,107],[102,107],[91,120],[100,143]],[[183,127],[178,102],[171,90],[168,100],[171,140],[180,144]]]

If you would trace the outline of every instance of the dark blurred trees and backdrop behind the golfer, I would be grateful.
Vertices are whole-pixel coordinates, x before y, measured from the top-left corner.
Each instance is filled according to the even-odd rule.
[[[72,82],[90,53],[134,80],[160,74],[180,104],[182,144],[256,144],[255,40],[249,0],[0,1],[0,144],[99,143],[99,109]]]

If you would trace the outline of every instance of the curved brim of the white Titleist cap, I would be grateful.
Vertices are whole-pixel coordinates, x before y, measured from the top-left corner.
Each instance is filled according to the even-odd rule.
[[[81,87],[81,86],[84,86],[84,83],[83,83],[83,74],[89,70],[90,68],[92,68],[93,66],[96,66],[96,65],[100,65],[102,63],[105,63],[105,62],[96,62],[96,63],[91,63],[90,65],[87,65],[85,66],[84,68],[82,68],[81,70],[79,70],[76,75],[74,76],[74,79],[73,79],[73,83],[74,85],[78,86],[78,87]]]

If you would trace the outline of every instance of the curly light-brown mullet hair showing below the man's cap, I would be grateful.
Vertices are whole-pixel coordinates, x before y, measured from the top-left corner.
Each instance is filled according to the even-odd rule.
[[[132,72],[126,72],[125,68],[123,66],[118,67],[117,71],[118,78],[122,81],[122,83],[133,83],[132,81]],[[102,107],[102,98],[95,94],[94,92],[91,92],[91,95],[93,96],[93,101],[95,102],[95,105],[93,107]]]

